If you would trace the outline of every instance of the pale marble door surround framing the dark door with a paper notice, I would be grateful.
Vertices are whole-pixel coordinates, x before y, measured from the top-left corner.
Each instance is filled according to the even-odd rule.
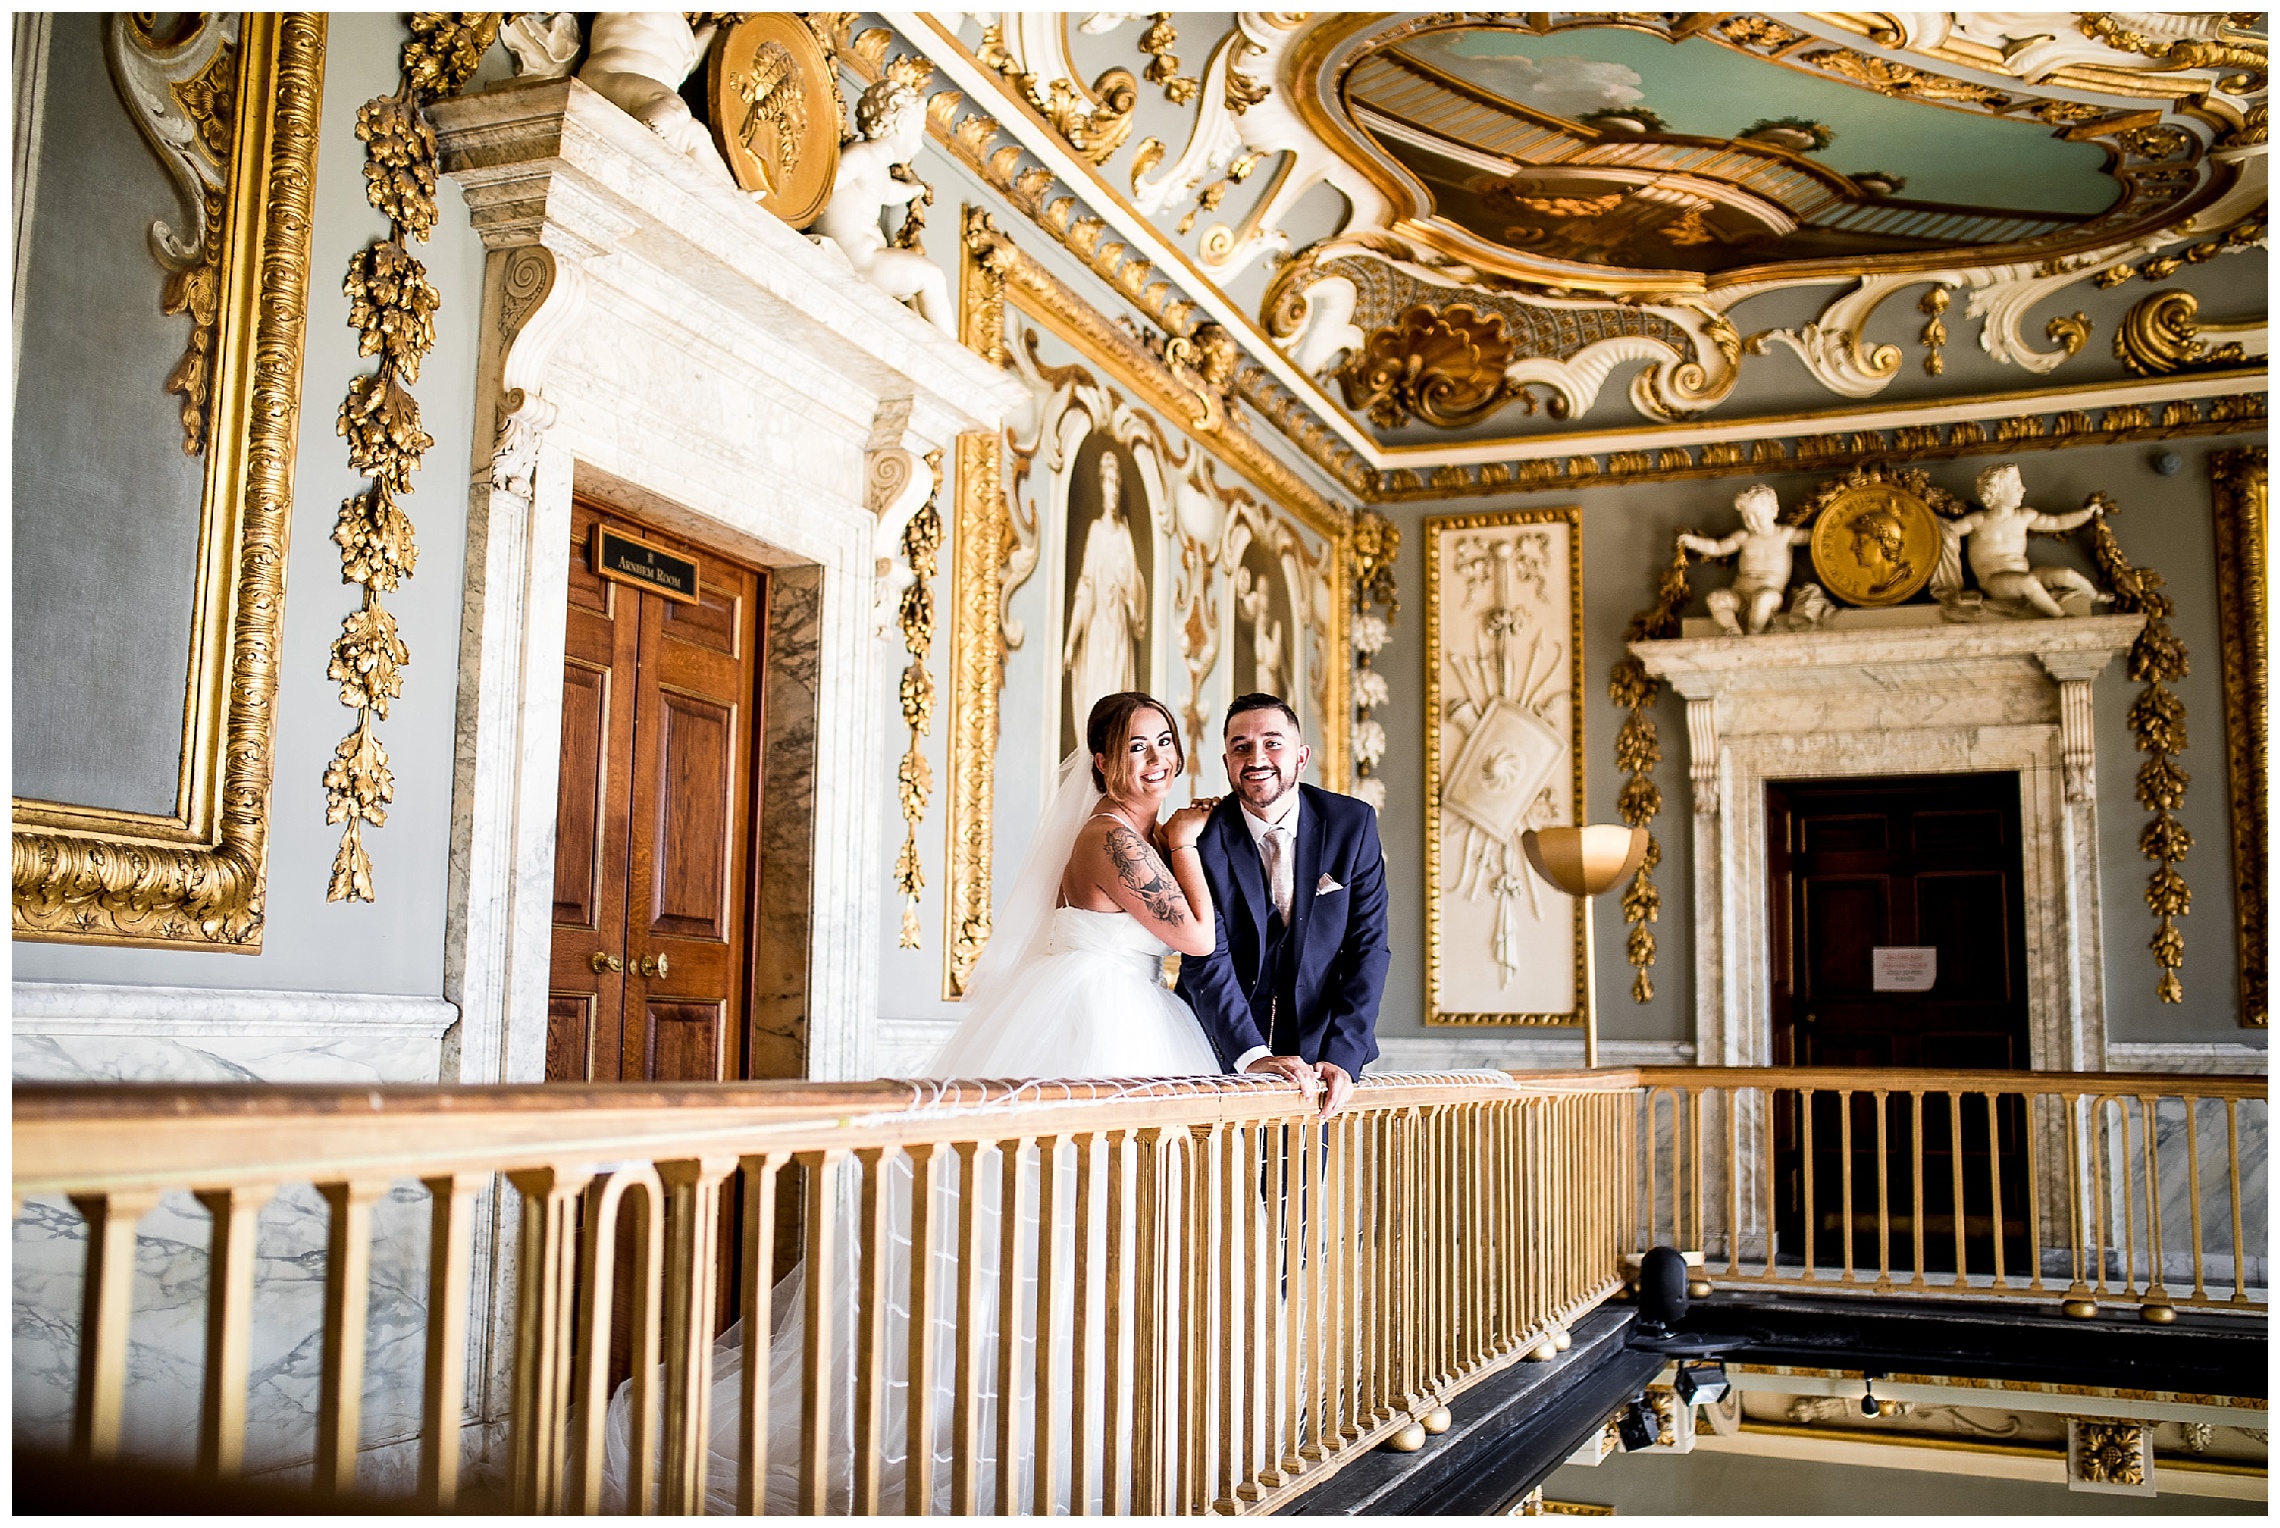
[[[2143,616],[1642,641],[1687,702],[1694,1054],[1772,1063],[1765,785],[2018,773],[2029,1058],[2107,1067],[2091,680]]]

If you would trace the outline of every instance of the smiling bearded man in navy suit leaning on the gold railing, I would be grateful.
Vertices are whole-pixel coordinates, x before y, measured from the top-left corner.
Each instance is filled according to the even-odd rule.
[[[1229,1072],[1320,1088],[1327,1120],[1377,1060],[1386,858],[1368,803],[1297,782],[1311,755],[1279,698],[1227,707],[1233,794],[1197,842],[1220,933],[1179,962],[1179,994]]]

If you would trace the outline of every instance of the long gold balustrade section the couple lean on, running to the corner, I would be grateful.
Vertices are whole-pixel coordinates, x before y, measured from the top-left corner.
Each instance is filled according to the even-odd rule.
[[[349,1489],[372,1204],[417,1181],[438,1250],[420,1496],[451,1507],[472,1216],[504,1179],[520,1510],[602,1510],[616,1343],[636,1510],[727,1492],[746,1512],[1252,1514],[1548,1355],[1621,1286],[1635,1092],[1628,1072],[1370,1076],[1325,1124],[1263,1079],[18,1086],[14,1202],[62,1195],[87,1222],[71,1446],[89,1462],[121,1450],[137,1222],[194,1193],[214,1225],[198,1469],[239,1469],[253,1218],[312,1184],[331,1225],[315,1480]],[[830,1277],[805,1277],[775,1332],[743,1323],[725,1471],[723,1227],[739,1307],[766,1314],[782,1195],[805,1209],[803,1268]],[[798,1359],[789,1462],[768,1457],[777,1343]],[[789,1501],[771,1466],[796,1476]]]

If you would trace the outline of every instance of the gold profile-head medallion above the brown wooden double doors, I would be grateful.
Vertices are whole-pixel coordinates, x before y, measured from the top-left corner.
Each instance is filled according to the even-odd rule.
[[[736,185],[793,228],[823,217],[846,107],[830,55],[791,11],[752,11],[711,48],[714,141]]]

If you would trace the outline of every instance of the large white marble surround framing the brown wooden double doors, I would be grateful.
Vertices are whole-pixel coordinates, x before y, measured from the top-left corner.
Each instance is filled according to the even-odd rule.
[[[873,639],[866,481],[882,452],[948,456],[996,429],[1021,388],[577,80],[461,96],[433,121],[488,251],[477,397],[492,420],[470,463],[451,794],[458,1081],[545,1074],[572,488],[798,568],[819,593],[807,839],[832,853],[807,885],[807,1074],[871,1076],[896,778],[876,691],[898,664]],[[513,1202],[477,1206],[474,1268],[467,1396],[490,1448]]]

